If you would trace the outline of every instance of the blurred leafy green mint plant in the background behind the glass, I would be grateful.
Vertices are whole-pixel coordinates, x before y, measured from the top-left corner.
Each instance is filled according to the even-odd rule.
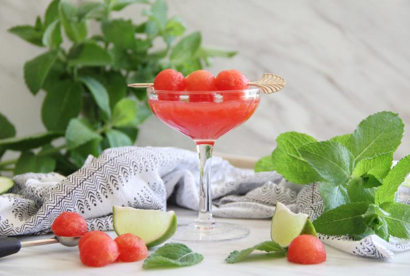
[[[113,18],[135,3],[146,7],[142,22]],[[89,32],[91,21],[100,27],[96,34]],[[9,29],[45,49],[25,63],[24,80],[33,95],[46,93],[40,115],[47,131],[15,137],[13,124],[0,114],[0,157],[6,150],[20,152],[18,159],[1,161],[0,172],[67,175],[89,154],[133,145],[151,111],[145,90],[129,89],[127,83],[153,82],[165,68],[188,74],[209,66],[212,57],[235,55],[202,47],[200,32],[182,37],[185,30],[180,17],[168,17],[165,0],[82,1],[78,6],[53,0],[34,25]],[[154,48],[156,41],[164,46]]]

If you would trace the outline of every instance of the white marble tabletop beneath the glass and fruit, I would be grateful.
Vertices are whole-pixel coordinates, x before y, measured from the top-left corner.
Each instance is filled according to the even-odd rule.
[[[175,209],[178,221],[192,221],[194,211]],[[211,244],[187,244],[195,252],[204,256],[202,263],[185,268],[142,270],[142,261],[135,263],[115,263],[101,268],[83,266],[79,260],[78,249],[59,244],[23,248],[20,252],[0,259],[0,275],[408,275],[410,252],[397,253],[394,260],[382,261],[357,257],[335,248],[325,246],[327,260],[318,265],[298,265],[285,258],[262,258],[228,264],[224,259],[233,250],[253,246],[270,240],[270,220],[229,220],[250,228],[247,238]],[[115,236],[113,231],[110,235]],[[26,239],[37,239],[29,237]],[[153,250],[150,250],[152,252]]]

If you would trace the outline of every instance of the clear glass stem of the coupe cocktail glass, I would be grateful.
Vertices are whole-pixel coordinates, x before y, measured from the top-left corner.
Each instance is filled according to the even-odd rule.
[[[212,229],[215,221],[212,218],[212,193],[211,193],[211,161],[212,144],[197,144],[199,159],[199,214],[195,220],[195,227],[199,229]]]

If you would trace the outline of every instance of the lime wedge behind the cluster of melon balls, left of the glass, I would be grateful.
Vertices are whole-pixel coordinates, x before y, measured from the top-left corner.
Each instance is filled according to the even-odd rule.
[[[148,247],[165,242],[176,231],[174,211],[114,206],[112,214],[113,227],[117,235],[132,233],[139,236]]]

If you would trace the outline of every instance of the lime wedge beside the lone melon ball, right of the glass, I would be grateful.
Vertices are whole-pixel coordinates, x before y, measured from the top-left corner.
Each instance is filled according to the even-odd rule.
[[[309,215],[295,214],[284,204],[276,203],[271,226],[272,241],[277,242],[282,247],[288,247],[293,239],[301,234],[317,236]]]

